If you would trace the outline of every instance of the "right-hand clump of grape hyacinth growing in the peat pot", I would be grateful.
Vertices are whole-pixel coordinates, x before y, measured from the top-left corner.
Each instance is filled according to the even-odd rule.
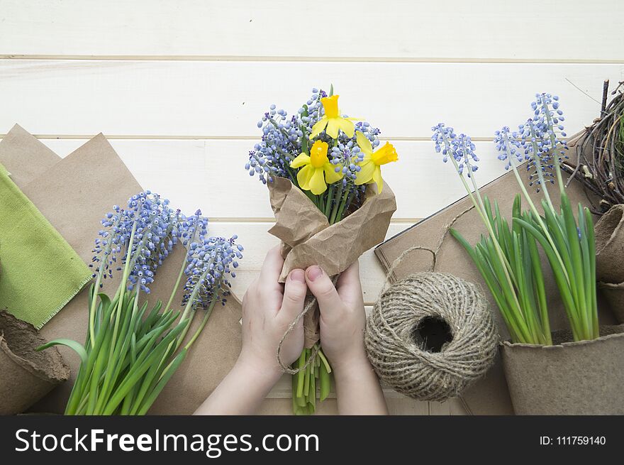
[[[598,337],[594,223],[589,209],[581,204],[574,212],[565,190],[560,165],[567,158],[567,134],[559,97],[535,94],[531,109],[533,116],[518,127],[517,133],[511,133],[511,138],[507,128],[498,131],[494,138],[501,154],[508,156],[512,148],[523,151],[523,159],[528,160],[530,185],[537,185],[537,192],[543,192],[541,213],[526,192],[516,165],[511,164],[530,207],[530,212],[514,218],[514,223],[535,237],[545,250],[574,340],[594,339]],[[558,207],[546,189],[546,183],[555,184],[555,180],[561,201]]]

